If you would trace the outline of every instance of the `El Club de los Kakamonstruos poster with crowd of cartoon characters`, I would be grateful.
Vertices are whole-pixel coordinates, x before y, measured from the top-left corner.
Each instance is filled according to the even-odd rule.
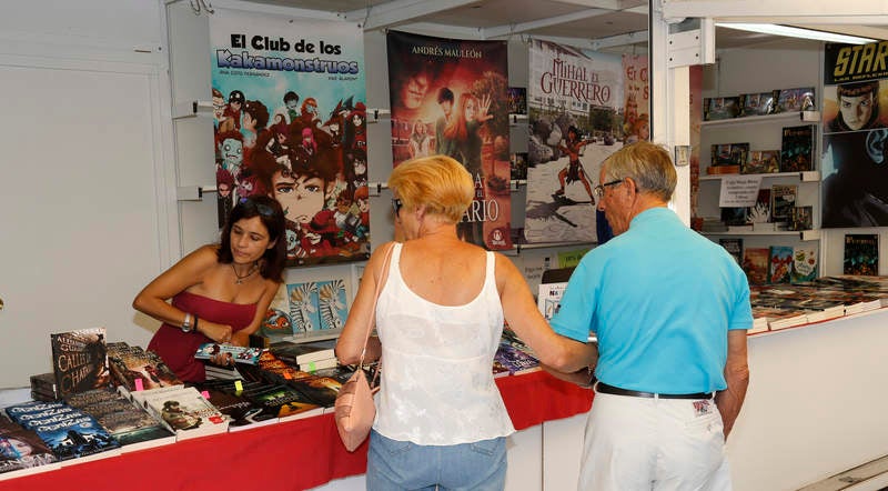
[[[210,38],[220,227],[238,200],[269,194],[289,265],[367,259],[361,27],[216,9]]]

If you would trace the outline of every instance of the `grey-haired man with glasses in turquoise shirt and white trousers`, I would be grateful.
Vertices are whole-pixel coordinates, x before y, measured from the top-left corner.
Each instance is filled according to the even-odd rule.
[[[571,277],[556,332],[598,339],[581,490],[730,489],[725,439],[749,381],[749,285],[667,208],[668,152],[624,147],[595,188],[616,237]]]

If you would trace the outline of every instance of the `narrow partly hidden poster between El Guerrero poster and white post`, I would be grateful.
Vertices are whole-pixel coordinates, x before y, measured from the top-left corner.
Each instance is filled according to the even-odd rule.
[[[650,86],[646,54],[623,56],[623,142],[650,140]]]

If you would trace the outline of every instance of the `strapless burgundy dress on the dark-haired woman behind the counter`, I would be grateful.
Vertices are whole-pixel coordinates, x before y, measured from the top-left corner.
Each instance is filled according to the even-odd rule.
[[[206,320],[231,325],[232,332],[250,325],[256,313],[255,303],[223,302],[186,291],[173,297],[172,304],[183,312],[198,315],[200,322]],[[202,343],[212,341],[199,332],[182,332],[178,325],[164,322],[151,338],[148,349],[160,354],[182,381],[202,382],[206,379],[206,374],[203,363],[194,359],[194,353]]]

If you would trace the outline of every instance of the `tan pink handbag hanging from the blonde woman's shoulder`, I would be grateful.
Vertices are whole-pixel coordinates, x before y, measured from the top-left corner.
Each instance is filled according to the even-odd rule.
[[[385,252],[382,274],[380,275],[380,281],[376,282],[376,292],[373,298],[374,315],[367,321],[367,333],[364,337],[364,349],[361,350],[361,360],[357,362],[357,369],[354,371],[354,374],[352,374],[340,389],[336,395],[336,402],[333,405],[336,412],[336,430],[340,432],[342,443],[350,452],[354,452],[355,449],[361,447],[361,443],[367,439],[370,430],[373,427],[373,420],[376,418],[376,404],[373,401],[373,394],[376,393],[379,388],[371,389],[371,384],[367,382],[366,374],[364,374],[364,354],[366,353],[370,332],[373,328],[376,300],[380,298],[380,290],[385,284],[391,258],[392,247]],[[374,382],[380,373],[380,368],[377,363],[373,374]]]

